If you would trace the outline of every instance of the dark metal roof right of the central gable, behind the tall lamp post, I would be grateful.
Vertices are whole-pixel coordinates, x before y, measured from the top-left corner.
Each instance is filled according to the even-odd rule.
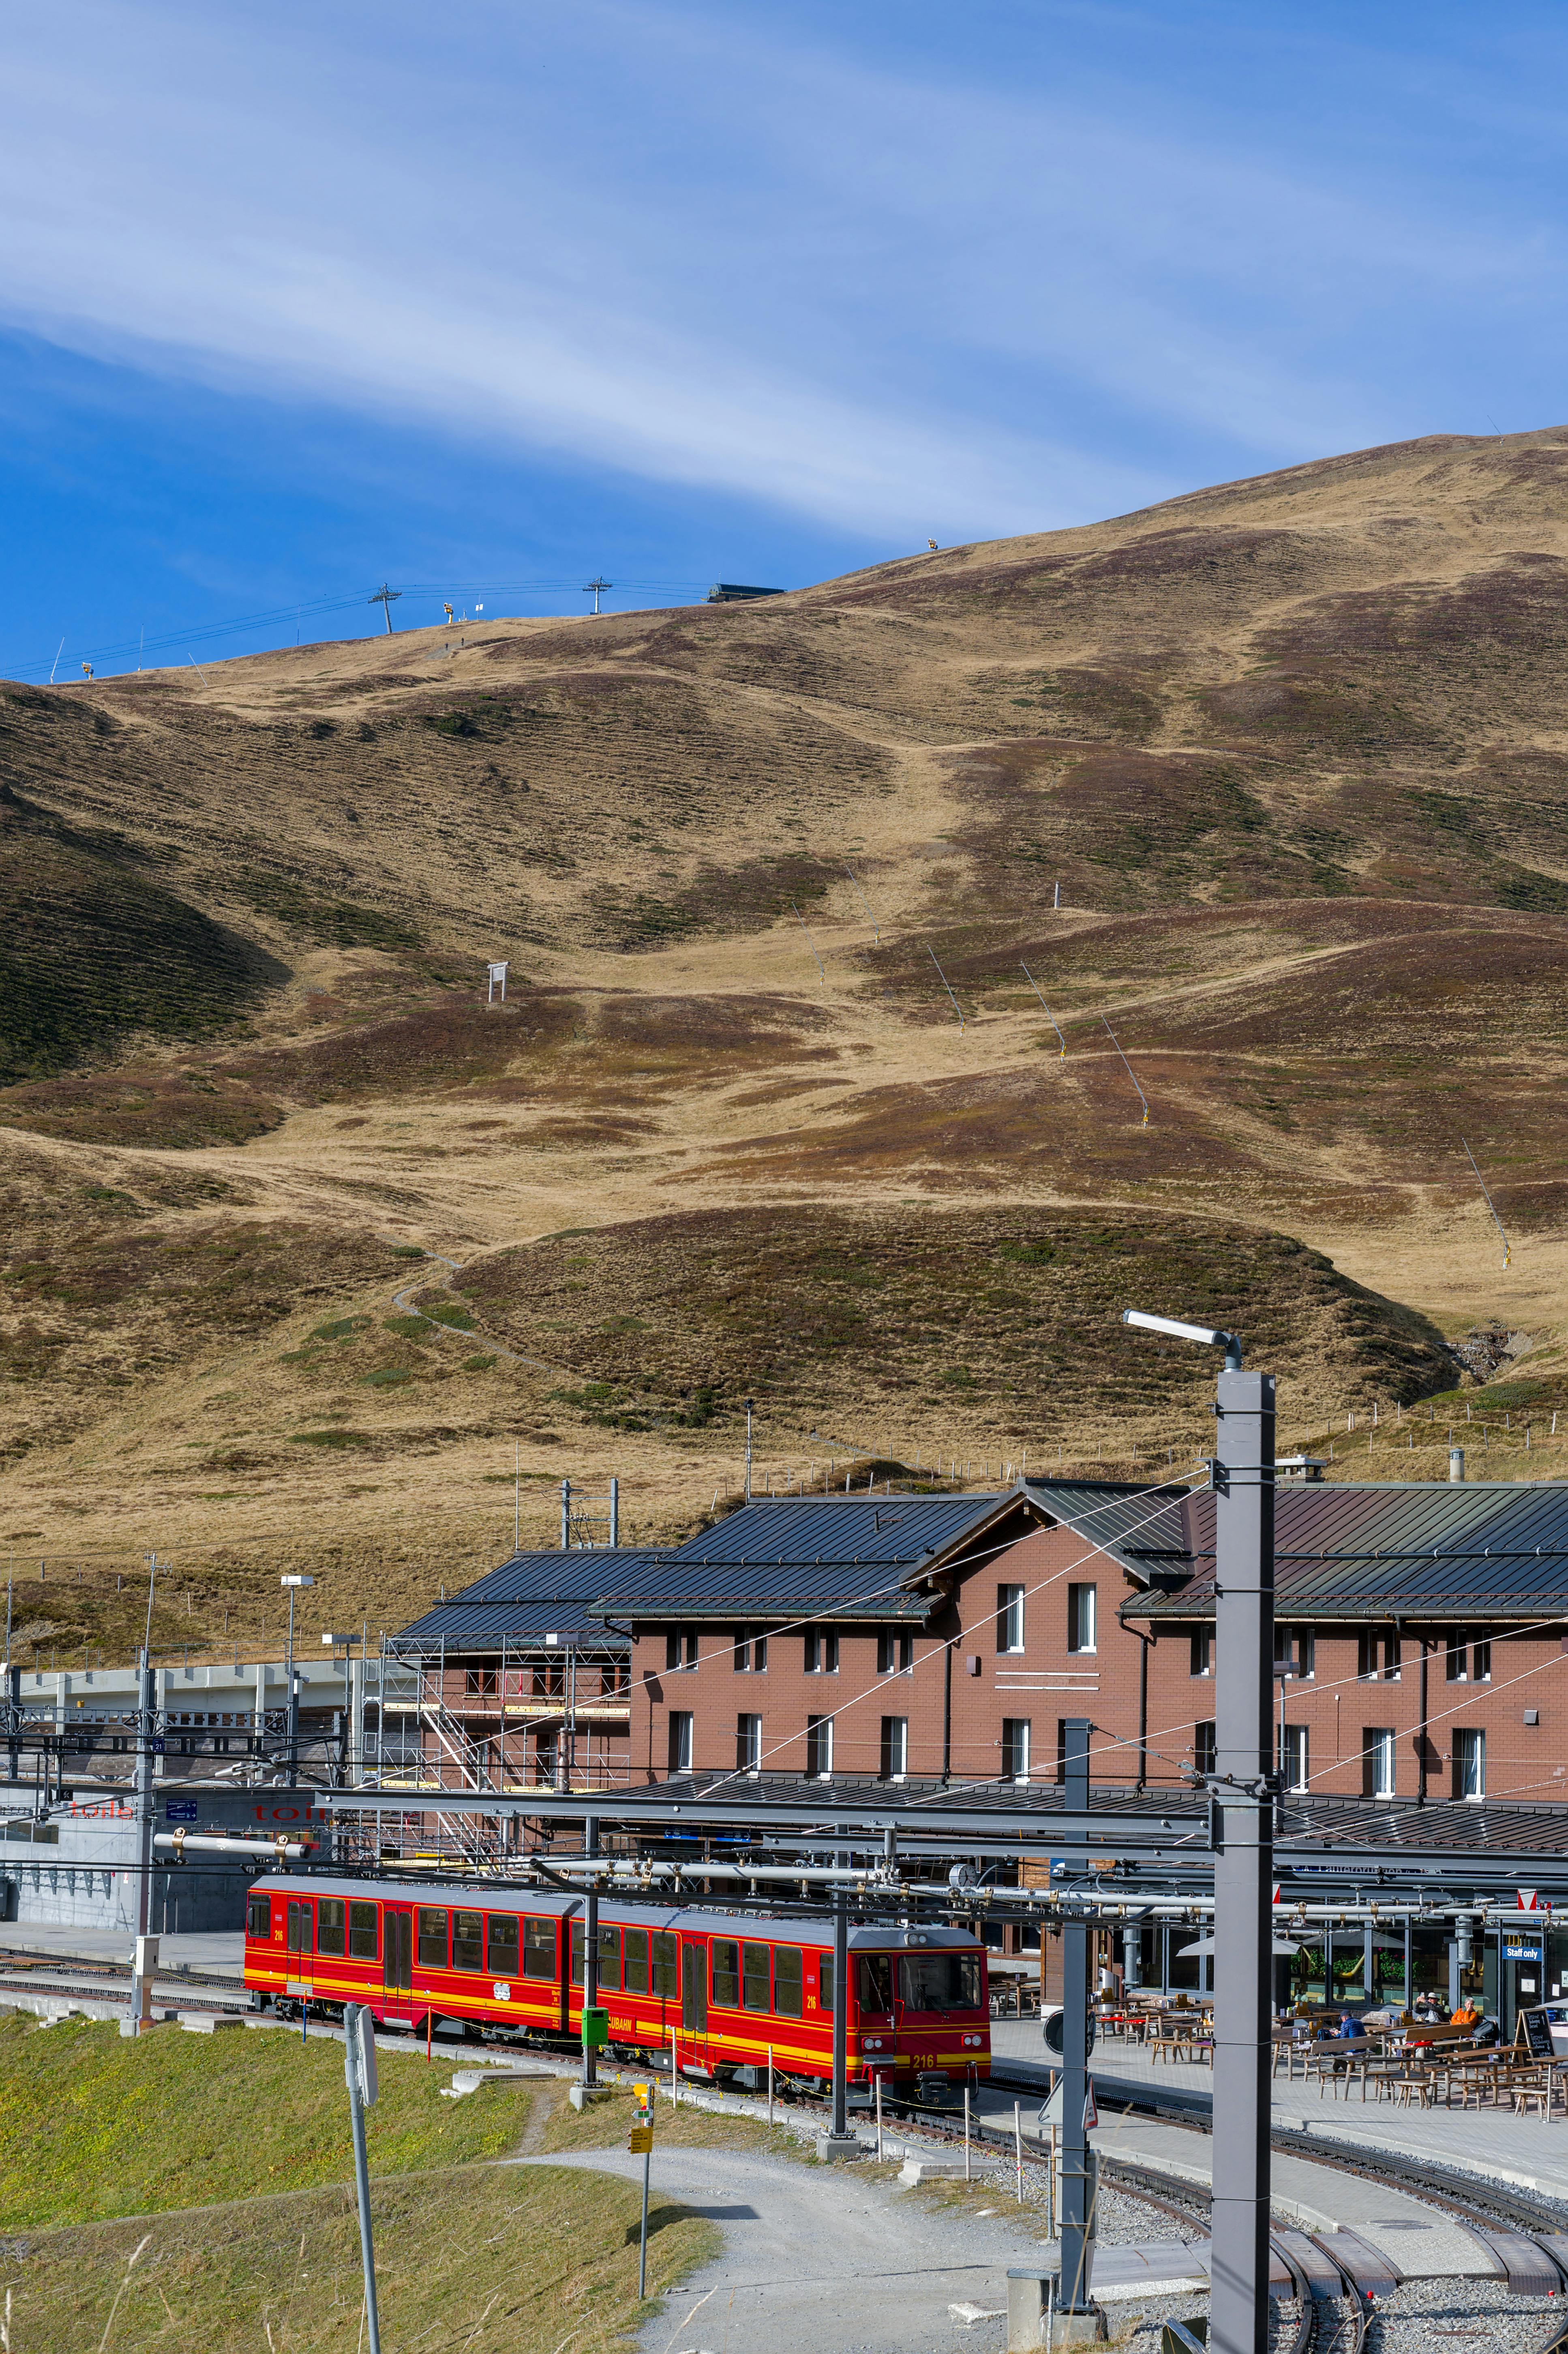
[[[1205,1617],[1215,1608],[1215,1497],[1203,1490],[1154,1530],[1163,1561],[1189,1568],[1180,1594],[1140,1596],[1128,1617]],[[1568,1485],[1281,1488],[1274,1523],[1278,1617],[1556,1617],[1568,1612]]]

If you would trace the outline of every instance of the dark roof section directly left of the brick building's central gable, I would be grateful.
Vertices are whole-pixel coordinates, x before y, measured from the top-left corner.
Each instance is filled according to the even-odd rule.
[[[636,1584],[605,1580],[612,1617],[735,1620],[808,1615],[921,1622],[939,1603],[923,1582],[1010,1514],[1043,1521],[1034,1495],[753,1497],[664,1554]],[[600,1556],[603,1558],[603,1556]]]

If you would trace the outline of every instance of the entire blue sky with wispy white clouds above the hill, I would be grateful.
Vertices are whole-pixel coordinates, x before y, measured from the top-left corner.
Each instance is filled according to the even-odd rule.
[[[1566,66],[1375,0],[14,12],[0,671],[1559,424]]]

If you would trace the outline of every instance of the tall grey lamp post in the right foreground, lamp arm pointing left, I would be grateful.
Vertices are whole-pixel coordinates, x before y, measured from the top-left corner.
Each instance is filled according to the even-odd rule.
[[[1212,2354],[1269,2345],[1269,2062],[1274,1994],[1274,1375],[1241,1370],[1210,1325],[1123,1323],[1224,1349],[1215,1441],[1215,2168]]]

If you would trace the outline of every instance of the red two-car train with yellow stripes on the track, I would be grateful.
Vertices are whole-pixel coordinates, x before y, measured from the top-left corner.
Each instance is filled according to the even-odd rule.
[[[544,1888],[259,1878],[245,1984],[294,2017],[367,2003],[386,2027],[494,2041],[582,2034],[584,1902]],[[833,2055],[833,1923],[603,1897],[598,1987],[610,2050],[671,2053],[690,2076],[824,2083]],[[986,1949],[956,1928],[852,1928],[850,2081],[949,2086],[991,2074]]]

